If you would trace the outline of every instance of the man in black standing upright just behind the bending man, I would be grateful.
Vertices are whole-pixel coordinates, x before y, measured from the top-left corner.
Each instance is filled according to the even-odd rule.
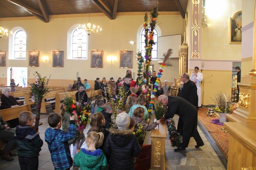
[[[186,72],[182,74],[181,80],[184,82],[181,97],[189,103],[191,103],[192,105],[194,105],[196,109],[198,109],[198,96],[196,84],[189,79],[189,75]],[[183,135],[182,127],[183,121],[181,118],[179,118],[177,132],[180,133],[180,135]]]

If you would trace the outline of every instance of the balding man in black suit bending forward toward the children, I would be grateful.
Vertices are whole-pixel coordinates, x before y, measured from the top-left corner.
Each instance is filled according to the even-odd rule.
[[[183,98],[176,96],[161,95],[158,102],[162,102],[163,106],[168,106],[168,111],[164,115],[165,119],[173,118],[175,114],[179,115],[183,120],[183,138],[181,144],[174,151],[182,151],[188,147],[190,137],[196,141],[196,148],[203,146],[204,143],[197,131],[197,109],[191,103]]]

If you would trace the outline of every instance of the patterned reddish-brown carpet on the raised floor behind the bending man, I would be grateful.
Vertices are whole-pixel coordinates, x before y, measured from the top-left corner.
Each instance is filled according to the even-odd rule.
[[[228,159],[229,152],[229,133],[224,133],[221,128],[223,126],[211,123],[211,120],[217,119],[218,117],[208,117],[206,116],[208,108],[199,108],[198,110],[198,120],[203,124],[203,126],[210,133],[218,147],[220,148],[223,155]]]

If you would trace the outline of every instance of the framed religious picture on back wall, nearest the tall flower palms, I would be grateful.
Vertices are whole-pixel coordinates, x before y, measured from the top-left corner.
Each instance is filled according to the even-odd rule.
[[[120,68],[132,68],[133,51],[120,51]]]

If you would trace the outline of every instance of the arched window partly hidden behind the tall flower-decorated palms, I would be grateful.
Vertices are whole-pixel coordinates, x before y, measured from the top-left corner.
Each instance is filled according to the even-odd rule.
[[[149,29],[150,29],[150,27],[149,27]],[[154,29],[154,42],[155,42],[155,45],[153,45],[153,49],[152,49],[152,58],[153,59],[157,59],[157,37],[158,37],[158,32],[157,32],[157,30],[156,29]],[[145,54],[145,37],[144,37],[144,35],[145,35],[145,31],[144,31],[144,29],[142,29],[141,30],[141,32],[140,32],[140,51],[141,51],[141,54],[142,54],[142,56],[144,56],[144,54]]]

